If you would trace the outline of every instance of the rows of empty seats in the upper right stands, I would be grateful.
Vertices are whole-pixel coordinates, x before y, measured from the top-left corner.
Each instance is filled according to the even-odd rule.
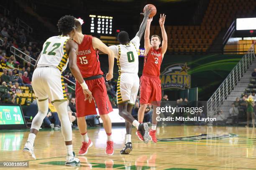
[[[206,52],[221,30],[235,18],[251,16],[254,0],[210,0],[201,25],[166,26],[168,51],[171,53]],[[151,26],[151,35],[161,35],[159,25]]]

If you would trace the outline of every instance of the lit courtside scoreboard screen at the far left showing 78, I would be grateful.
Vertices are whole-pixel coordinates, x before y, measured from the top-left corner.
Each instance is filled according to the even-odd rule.
[[[26,128],[20,105],[0,105],[0,129]]]

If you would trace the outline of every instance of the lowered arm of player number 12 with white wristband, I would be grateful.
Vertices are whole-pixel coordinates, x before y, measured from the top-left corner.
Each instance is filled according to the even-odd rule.
[[[68,40],[67,44],[66,44],[66,50],[67,50],[67,53],[69,54],[69,69],[70,69],[72,75],[74,75],[76,80],[82,86],[85,100],[89,99],[89,102],[91,102],[92,101],[92,92],[88,89],[88,87],[87,87],[86,83],[84,82],[84,79],[81,75],[81,72],[80,72],[79,68],[77,67],[78,45],[73,40]]]

